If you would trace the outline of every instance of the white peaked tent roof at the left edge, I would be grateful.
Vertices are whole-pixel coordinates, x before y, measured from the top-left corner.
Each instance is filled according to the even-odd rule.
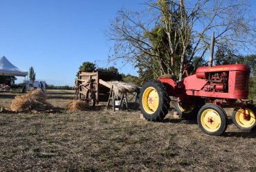
[[[27,74],[28,72],[12,65],[5,56],[0,58],[0,76],[26,76]]]

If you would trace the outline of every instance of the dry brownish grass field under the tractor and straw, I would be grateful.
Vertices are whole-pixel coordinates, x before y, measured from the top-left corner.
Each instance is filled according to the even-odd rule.
[[[19,93],[0,93],[8,107]],[[57,114],[0,114],[0,171],[256,171],[256,132],[232,124],[207,136],[196,121],[140,111],[65,111],[70,91],[46,92]]]

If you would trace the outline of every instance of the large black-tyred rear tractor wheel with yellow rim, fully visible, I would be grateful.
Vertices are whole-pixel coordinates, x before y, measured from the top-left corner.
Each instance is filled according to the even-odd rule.
[[[150,121],[165,118],[170,108],[170,97],[165,87],[158,80],[149,80],[140,89],[140,110],[143,116]]]

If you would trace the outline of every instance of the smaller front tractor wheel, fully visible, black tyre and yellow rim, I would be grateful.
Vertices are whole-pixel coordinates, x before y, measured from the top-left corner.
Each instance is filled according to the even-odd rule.
[[[221,107],[213,104],[204,105],[197,116],[199,128],[204,133],[219,136],[228,127],[228,117]]]

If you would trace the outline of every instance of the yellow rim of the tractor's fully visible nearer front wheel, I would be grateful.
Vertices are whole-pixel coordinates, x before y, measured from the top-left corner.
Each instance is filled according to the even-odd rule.
[[[201,114],[201,125],[206,131],[218,131],[221,127],[221,116],[214,109],[206,109]]]

